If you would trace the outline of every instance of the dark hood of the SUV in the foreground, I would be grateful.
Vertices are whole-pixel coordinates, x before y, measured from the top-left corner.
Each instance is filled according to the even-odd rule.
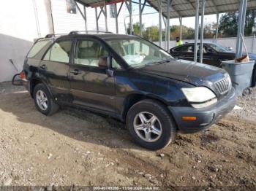
[[[214,82],[225,77],[226,71],[214,66],[192,61],[172,60],[167,63],[147,65],[139,72],[176,79],[195,86],[206,86],[215,91]]]

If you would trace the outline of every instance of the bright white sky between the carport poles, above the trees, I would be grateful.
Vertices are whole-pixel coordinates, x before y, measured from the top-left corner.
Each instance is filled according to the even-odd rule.
[[[138,23],[139,22],[139,9],[138,9],[138,4],[132,4],[132,23]],[[158,26],[159,25],[159,14],[158,12],[152,8],[152,7],[145,7],[143,10],[143,15],[142,16],[142,23],[144,24],[145,27],[148,26]],[[126,11],[126,23],[129,23],[129,12]],[[220,17],[221,15],[219,15]],[[216,15],[205,15],[204,17],[204,23],[213,23],[217,22],[217,16]],[[178,18],[177,19],[170,19],[170,26],[173,25],[179,25]],[[195,28],[195,17],[184,17],[182,19],[182,25]],[[165,24],[162,21],[162,28],[165,28]]]

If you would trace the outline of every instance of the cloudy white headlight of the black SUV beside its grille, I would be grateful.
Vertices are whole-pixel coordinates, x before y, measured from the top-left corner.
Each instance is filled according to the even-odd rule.
[[[181,88],[182,92],[195,108],[210,106],[217,102],[216,95],[207,87]]]

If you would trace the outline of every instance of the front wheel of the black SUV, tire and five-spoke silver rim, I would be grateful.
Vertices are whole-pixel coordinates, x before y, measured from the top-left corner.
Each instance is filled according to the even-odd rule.
[[[127,128],[140,146],[151,150],[166,147],[176,137],[176,124],[166,106],[150,99],[129,109]]]

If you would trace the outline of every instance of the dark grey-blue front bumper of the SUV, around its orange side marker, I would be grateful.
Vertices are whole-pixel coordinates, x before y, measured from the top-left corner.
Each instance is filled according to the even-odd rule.
[[[200,109],[169,106],[168,109],[170,109],[170,112],[173,114],[174,120],[176,120],[176,124],[178,125],[178,130],[180,130],[181,133],[196,133],[218,122],[234,108],[235,104],[236,93],[232,87],[225,97],[212,106]],[[197,117],[197,120],[184,121],[182,117]]]

